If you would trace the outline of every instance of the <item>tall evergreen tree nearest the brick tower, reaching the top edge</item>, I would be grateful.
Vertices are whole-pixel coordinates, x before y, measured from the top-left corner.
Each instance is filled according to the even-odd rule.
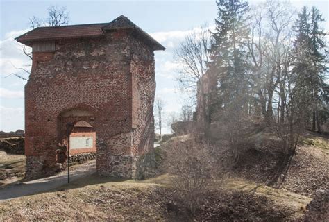
[[[242,0],[218,0],[218,18],[213,33],[212,64],[217,72],[218,100],[221,106],[235,104],[242,109],[248,94],[248,64],[244,42],[248,37],[246,12],[248,3]]]

